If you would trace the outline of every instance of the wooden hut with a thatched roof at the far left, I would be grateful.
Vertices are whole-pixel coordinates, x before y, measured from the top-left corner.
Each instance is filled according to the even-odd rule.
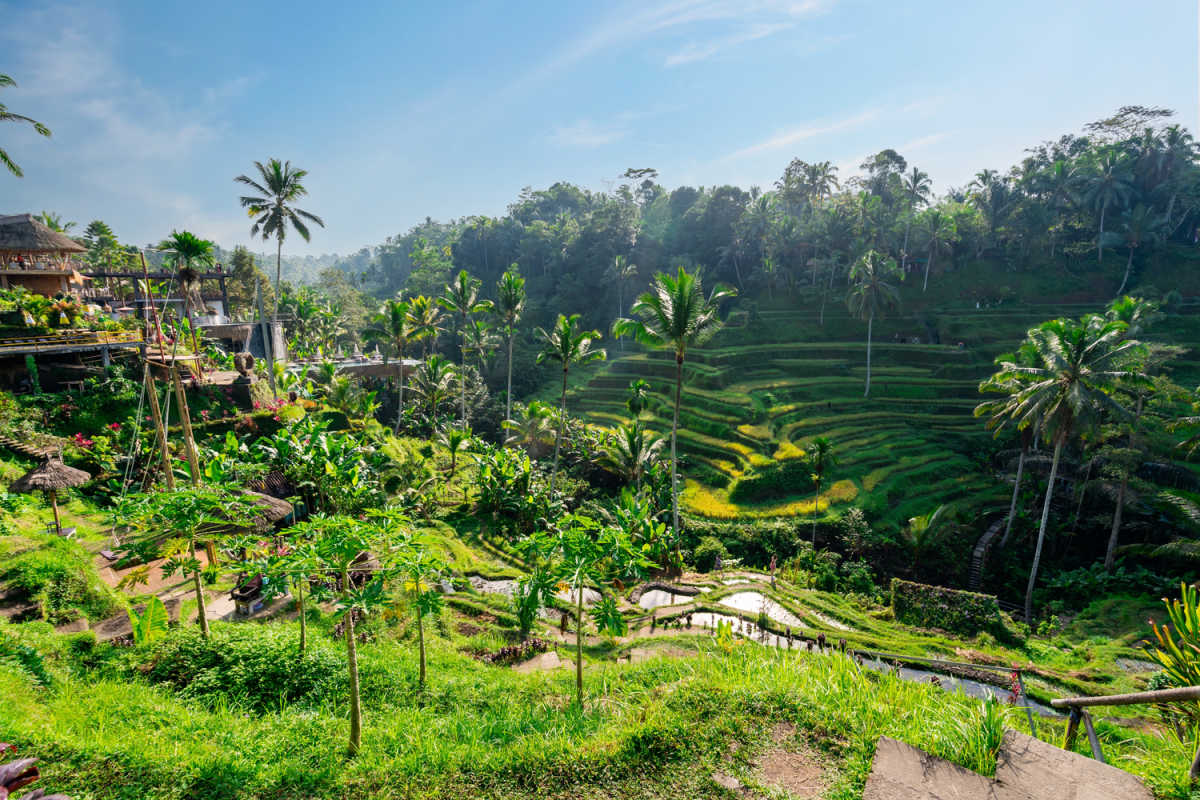
[[[78,294],[89,278],[71,260],[86,248],[31,213],[0,217],[0,288],[25,287],[47,297]]]

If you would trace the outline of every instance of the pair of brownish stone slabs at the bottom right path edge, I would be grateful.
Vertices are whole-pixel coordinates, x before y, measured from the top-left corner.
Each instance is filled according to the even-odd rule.
[[[1126,771],[1008,730],[996,777],[881,736],[863,800],[1153,800]]]

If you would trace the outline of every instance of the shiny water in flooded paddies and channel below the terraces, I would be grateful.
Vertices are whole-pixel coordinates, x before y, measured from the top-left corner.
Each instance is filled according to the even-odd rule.
[[[742,582],[740,579],[738,582]],[[504,594],[511,596],[512,594],[512,581],[486,581],[478,576],[470,577],[470,583],[476,591],[485,594]],[[732,582],[726,581],[727,585]],[[749,582],[745,582],[749,583]],[[700,593],[707,591],[704,588],[689,587],[694,589],[700,589]],[[589,590],[590,591],[590,590]],[[647,589],[642,593],[638,599],[638,606],[647,610],[654,608],[677,606],[690,603],[696,600],[698,595],[683,595],[671,593],[664,589]],[[565,600],[566,597],[564,597]],[[590,600],[587,595],[584,596],[586,602]],[[758,614],[766,613],[768,618],[775,622],[787,626],[788,628],[796,628],[797,637],[800,630],[806,627],[804,621],[780,606],[774,600],[767,597],[766,595],[757,591],[738,591],[732,595],[727,595],[716,601],[721,606],[727,606],[736,610]],[[810,609],[805,609],[806,614],[811,614],[814,619],[833,627],[835,630],[850,630],[850,626],[839,622],[838,620],[829,619],[822,614],[817,614]],[[757,642],[764,646],[780,648],[784,650],[790,649],[803,649],[805,642],[800,638],[788,639],[786,636],[780,636],[778,633],[772,633],[770,631],[760,630],[752,622],[748,622],[740,616],[732,616],[728,614],[716,614],[713,612],[697,610],[691,614],[682,614],[682,618],[689,619],[691,621],[690,627],[700,627],[702,630],[715,631],[718,624],[728,622],[734,636],[749,639],[751,642]],[[958,664],[953,662],[941,662],[935,658],[918,658],[914,656],[889,656],[889,654],[877,654],[877,652],[847,652],[856,662],[864,668],[874,669],[876,672],[889,672],[902,680],[912,681],[914,684],[934,684],[940,686],[947,692],[961,692],[967,697],[974,697],[977,699],[988,699],[989,697],[996,698],[1002,702],[1008,702],[1010,697],[1010,691],[1001,686],[988,684],[980,680],[974,680],[965,675],[956,675],[950,672],[938,672],[938,664],[944,664],[948,669],[965,669],[974,672],[995,672],[997,674],[1010,674],[1010,670],[1003,668],[994,668],[982,664]],[[924,662],[930,667],[929,669],[923,669],[920,667],[912,666],[913,662]],[[1028,709],[1031,712],[1038,716],[1045,717],[1061,717],[1062,714],[1051,709],[1048,705],[1038,703],[1037,700],[1030,699],[1028,696],[1024,694],[1024,686],[1021,687],[1022,697],[1019,703],[1022,708]],[[1031,720],[1032,722],[1032,720]]]

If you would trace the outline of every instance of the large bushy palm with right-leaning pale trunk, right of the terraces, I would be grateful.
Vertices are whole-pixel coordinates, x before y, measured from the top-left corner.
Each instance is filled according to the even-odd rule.
[[[1034,360],[1034,366],[1004,361],[982,386],[985,391],[1008,395],[1003,402],[988,409],[997,428],[1014,422],[1018,428],[1040,431],[1054,443],[1042,523],[1025,590],[1026,622],[1033,620],[1033,588],[1042,563],[1063,446],[1076,433],[1094,425],[1104,411],[1121,417],[1129,415],[1111,393],[1118,384],[1141,378],[1130,369],[1130,359],[1141,345],[1124,337],[1127,325],[1120,320],[1105,320],[1098,315],[1079,321],[1055,319],[1043,323],[1032,329],[1026,339],[1027,355]]]

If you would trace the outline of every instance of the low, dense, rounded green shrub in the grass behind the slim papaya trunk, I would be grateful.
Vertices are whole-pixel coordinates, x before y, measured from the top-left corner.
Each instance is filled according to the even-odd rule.
[[[308,637],[299,655],[299,632],[265,625],[214,625],[172,631],[143,650],[142,670],[156,684],[205,704],[228,700],[254,710],[281,703],[320,704],[346,692],[346,661],[338,648]]]

